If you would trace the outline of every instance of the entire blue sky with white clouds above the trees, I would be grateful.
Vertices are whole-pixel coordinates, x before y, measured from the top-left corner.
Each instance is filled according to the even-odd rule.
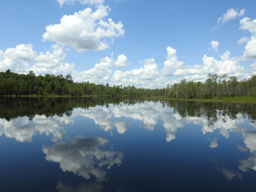
[[[0,71],[162,88],[256,74],[255,1],[1,0]]]

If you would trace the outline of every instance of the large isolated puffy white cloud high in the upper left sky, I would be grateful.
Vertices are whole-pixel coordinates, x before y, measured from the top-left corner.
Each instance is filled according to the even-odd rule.
[[[109,10],[109,7],[99,5],[95,11],[88,7],[73,15],[64,15],[59,24],[46,26],[42,38],[78,51],[105,50],[109,47],[108,39],[113,41],[124,35],[121,22],[106,19]]]

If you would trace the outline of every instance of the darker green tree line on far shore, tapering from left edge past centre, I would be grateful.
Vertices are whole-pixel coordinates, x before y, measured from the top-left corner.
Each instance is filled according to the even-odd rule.
[[[122,85],[110,86],[96,85],[93,82],[74,82],[70,74],[65,77],[61,74],[45,74],[36,76],[34,72],[18,74],[0,72],[0,96],[159,96],[162,89],[135,88],[135,86],[123,87]]]

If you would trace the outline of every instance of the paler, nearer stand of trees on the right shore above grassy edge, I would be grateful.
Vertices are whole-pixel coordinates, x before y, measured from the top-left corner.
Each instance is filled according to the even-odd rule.
[[[206,82],[181,80],[167,87],[167,95],[179,99],[222,99],[224,96],[256,96],[256,76],[238,81],[227,74],[208,74]]]

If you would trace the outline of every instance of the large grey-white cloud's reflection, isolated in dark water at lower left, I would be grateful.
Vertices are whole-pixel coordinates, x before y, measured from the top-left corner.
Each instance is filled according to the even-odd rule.
[[[73,172],[89,180],[106,180],[105,168],[120,166],[123,153],[103,150],[108,140],[101,137],[78,137],[69,141],[59,142],[53,146],[43,146],[47,161],[60,164],[63,172]]]

